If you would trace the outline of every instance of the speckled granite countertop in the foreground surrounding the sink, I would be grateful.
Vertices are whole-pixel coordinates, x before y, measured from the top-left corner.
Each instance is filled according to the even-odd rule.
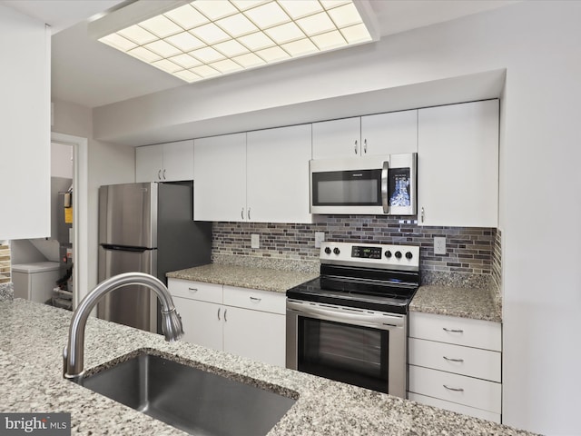
[[[62,378],[71,312],[21,299],[0,302],[0,411],[70,412],[80,435],[182,435],[182,431]],[[273,367],[113,322],[91,318],[85,368],[148,348],[206,371],[298,395],[269,432],[278,435],[530,435],[527,431],[443,411],[310,374]]]

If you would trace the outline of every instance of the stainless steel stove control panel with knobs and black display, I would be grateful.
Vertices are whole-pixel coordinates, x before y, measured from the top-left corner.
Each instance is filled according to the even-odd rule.
[[[320,245],[320,262],[415,270],[419,269],[419,246],[326,241]]]

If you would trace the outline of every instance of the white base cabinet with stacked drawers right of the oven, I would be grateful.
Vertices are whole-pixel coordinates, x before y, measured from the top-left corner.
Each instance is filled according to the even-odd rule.
[[[409,400],[501,421],[499,322],[409,316]]]

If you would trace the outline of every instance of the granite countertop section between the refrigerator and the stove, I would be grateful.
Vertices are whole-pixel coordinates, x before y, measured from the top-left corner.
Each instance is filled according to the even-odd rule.
[[[300,283],[319,277],[319,272],[284,271],[271,268],[210,263],[168,272],[172,279],[226,284],[271,292],[287,292]]]

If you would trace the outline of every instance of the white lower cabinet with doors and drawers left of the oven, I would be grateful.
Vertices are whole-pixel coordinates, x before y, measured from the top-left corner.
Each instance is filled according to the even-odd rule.
[[[169,279],[183,340],[284,367],[284,294]]]

